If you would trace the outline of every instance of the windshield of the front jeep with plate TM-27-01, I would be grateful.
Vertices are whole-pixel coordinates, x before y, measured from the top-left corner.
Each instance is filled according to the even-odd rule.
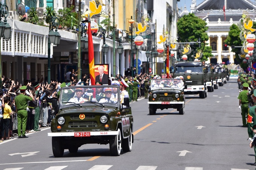
[[[120,89],[118,86],[70,86],[61,89],[59,104],[65,106],[118,106],[120,102]]]

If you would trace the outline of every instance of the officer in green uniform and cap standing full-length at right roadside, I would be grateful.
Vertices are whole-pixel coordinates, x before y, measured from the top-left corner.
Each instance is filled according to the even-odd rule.
[[[249,87],[248,83],[244,83],[243,87],[244,87],[244,90],[239,93],[238,99],[239,99],[239,109],[241,109],[242,111],[242,122],[243,122],[242,127],[247,127],[245,117],[248,114],[248,109],[249,109],[248,97],[247,97],[248,87]]]

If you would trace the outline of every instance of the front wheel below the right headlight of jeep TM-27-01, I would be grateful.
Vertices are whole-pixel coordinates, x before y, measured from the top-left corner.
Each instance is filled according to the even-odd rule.
[[[109,141],[109,148],[111,156],[119,156],[121,153],[121,146],[122,146],[122,136],[121,131],[118,128],[118,135],[111,137]]]

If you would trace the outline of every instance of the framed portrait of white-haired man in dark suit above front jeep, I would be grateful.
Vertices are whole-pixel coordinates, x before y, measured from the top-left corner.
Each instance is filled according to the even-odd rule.
[[[108,85],[108,64],[95,64],[94,71],[95,81]]]

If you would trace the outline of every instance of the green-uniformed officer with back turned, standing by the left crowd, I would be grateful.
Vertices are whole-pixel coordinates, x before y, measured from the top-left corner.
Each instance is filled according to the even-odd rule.
[[[15,106],[16,106],[16,112],[17,112],[17,119],[18,119],[18,138],[26,138],[25,135],[26,132],[26,125],[27,125],[27,101],[34,101],[34,96],[28,90],[29,96],[26,94],[26,88],[27,86],[22,86],[20,88],[20,94],[15,97]],[[22,128],[22,133],[21,133]]]

